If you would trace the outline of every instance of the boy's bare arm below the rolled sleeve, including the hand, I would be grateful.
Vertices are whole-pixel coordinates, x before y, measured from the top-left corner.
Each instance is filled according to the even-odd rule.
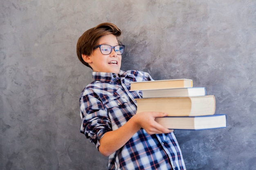
[[[126,142],[140,129],[144,128],[150,135],[157,133],[170,133],[173,130],[164,128],[155,121],[155,117],[164,117],[166,113],[141,112],[135,114],[129,121],[117,130],[106,132],[100,139],[99,152],[108,156],[124,146]]]

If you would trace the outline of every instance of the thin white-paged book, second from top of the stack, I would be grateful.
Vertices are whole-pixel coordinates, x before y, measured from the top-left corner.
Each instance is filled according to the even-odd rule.
[[[152,97],[187,97],[187,96],[205,96],[205,87],[190,87],[190,88],[168,88],[157,90],[143,90],[142,98]]]

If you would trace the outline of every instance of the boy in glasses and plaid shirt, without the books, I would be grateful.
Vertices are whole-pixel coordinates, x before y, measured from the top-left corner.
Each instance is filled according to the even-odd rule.
[[[94,82],[80,96],[81,132],[109,156],[109,170],[185,170],[173,130],[155,117],[166,113],[137,113],[140,91],[129,91],[130,82],[153,80],[141,71],[121,71],[124,45],[120,29],[102,23],[85,31],[77,42],[79,60],[92,68]]]

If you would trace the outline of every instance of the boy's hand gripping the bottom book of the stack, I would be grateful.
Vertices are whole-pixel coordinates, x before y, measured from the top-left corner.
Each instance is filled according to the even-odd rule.
[[[134,119],[134,121],[140,128],[144,128],[144,130],[146,130],[146,132],[149,135],[173,132],[173,130],[165,128],[164,126],[158,124],[155,121],[156,117],[164,117],[164,116],[167,116],[167,113],[141,112],[134,115],[132,119]]]

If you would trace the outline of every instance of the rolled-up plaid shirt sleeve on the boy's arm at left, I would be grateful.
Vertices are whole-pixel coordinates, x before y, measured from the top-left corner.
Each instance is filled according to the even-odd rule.
[[[108,110],[97,95],[89,93],[80,98],[80,114],[82,119],[80,132],[98,148],[99,140],[106,132],[112,130]]]

